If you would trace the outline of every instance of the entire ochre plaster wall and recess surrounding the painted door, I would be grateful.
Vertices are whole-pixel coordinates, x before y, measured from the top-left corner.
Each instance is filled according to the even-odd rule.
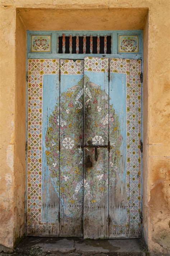
[[[16,237],[24,232],[25,28],[143,28],[143,233],[152,253],[167,253],[169,4],[169,0],[53,0],[48,2],[50,10],[45,0],[1,0],[1,244],[13,247]]]

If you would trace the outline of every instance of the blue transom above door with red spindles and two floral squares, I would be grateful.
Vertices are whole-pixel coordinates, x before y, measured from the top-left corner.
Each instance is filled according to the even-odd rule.
[[[28,31],[28,58],[142,58],[142,30]]]

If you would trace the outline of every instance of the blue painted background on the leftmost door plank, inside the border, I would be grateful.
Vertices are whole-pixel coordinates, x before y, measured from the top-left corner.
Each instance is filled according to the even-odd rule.
[[[58,178],[52,177],[47,164],[46,134],[51,127],[49,118],[55,110],[59,98],[59,75],[43,75],[43,122],[42,122],[42,222],[55,223],[55,228],[47,229],[47,236],[59,235],[58,211],[59,211],[59,186]],[[59,129],[58,129],[59,133]],[[59,134],[58,134],[59,135]],[[58,141],[56,141],[56,148]],[[59,154],[54,164],[58,165]],[[57,173],[56,173],[57,175]],[[58,169],[59,177],[59,169]],[[50,226],[50,225],[49,225]]]

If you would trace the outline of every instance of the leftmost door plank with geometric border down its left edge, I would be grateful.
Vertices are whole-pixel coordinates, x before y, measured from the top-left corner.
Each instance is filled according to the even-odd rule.
[[[59,233],[59,128],[51,117],[59,97],[59,70],[59,59],[28,60],[27,235]],[[51,132],[56,136],[49,137]]]

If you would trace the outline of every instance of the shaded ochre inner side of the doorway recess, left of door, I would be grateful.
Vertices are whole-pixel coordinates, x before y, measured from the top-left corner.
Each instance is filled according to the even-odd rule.
[[[25,233],[25,139],[26,139],[26,31],[16,13],[15,35],[15,148],[14,148],[14,239]],[[19,225],[18,225],[19,224]]]

